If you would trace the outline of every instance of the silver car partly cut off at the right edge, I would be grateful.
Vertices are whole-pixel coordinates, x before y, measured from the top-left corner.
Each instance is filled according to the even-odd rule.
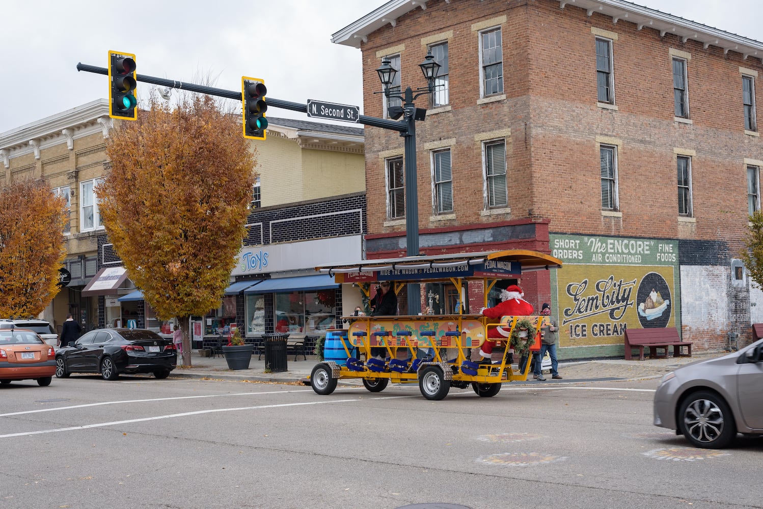
[[[737,433],[763,434],[763,339],[663,376],[654,424],[709,449],[726,447]]]

